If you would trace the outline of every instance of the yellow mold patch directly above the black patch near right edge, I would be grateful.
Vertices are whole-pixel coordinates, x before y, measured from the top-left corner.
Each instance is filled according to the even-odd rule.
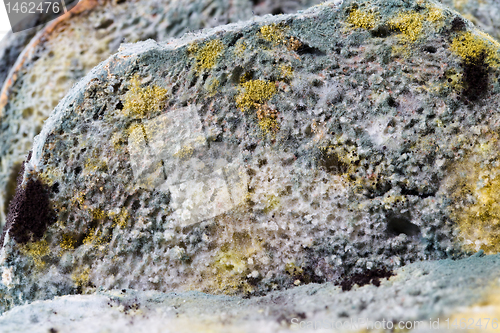
[[[466,63],[476,63],[484,56],[486,63],[495,66],[500,63],[498,50],[500,43],[484,32],[470,31],[455,37],[450,45],[450,50],[460,56]]]

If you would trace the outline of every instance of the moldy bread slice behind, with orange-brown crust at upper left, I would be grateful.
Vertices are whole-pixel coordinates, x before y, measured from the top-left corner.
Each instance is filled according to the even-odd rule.
[[[7,77],[0,97],[0,230],[5,224],[16,176],[33,137],[71,86],[124,41],[157,41],[202,28],[247,20],[254,15],[291,13],[319,0],[84,0],[49,23],[27,45]],[[18,46],[30,36],[9,37],[7,71]],[[11,41],[16,38],[15,42]],[[19,45],[18,45],[19,44]],[[15,53],[15,54],[12,54]],[[0,65],[4,65],[3,62]],[[0,82],[3,82],[0,70]],[[0,83],[1,84],[1,83]]]

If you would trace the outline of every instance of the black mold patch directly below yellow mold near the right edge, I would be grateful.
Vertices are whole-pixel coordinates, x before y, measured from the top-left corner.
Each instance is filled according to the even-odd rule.
[[[463,80],[465,89],[463,95],[469,101],[475,101],[488,91],[488,64],[485,62],[484,52],[477,59],[467,59],[462,65],[464,68]]]

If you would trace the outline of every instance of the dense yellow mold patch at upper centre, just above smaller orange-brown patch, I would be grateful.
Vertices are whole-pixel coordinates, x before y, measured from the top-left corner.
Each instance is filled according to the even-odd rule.
[[[240,85],[236,105],[241,111],[258,107],[276,94],[276,84],[265,80],[250,80]]]

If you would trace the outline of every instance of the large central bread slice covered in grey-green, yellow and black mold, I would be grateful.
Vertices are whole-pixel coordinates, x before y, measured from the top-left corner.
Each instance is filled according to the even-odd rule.
[[[499,49],[439,3],[388,0],[123,45],[35,139],[2,307],[349,289],[498,252]]]

